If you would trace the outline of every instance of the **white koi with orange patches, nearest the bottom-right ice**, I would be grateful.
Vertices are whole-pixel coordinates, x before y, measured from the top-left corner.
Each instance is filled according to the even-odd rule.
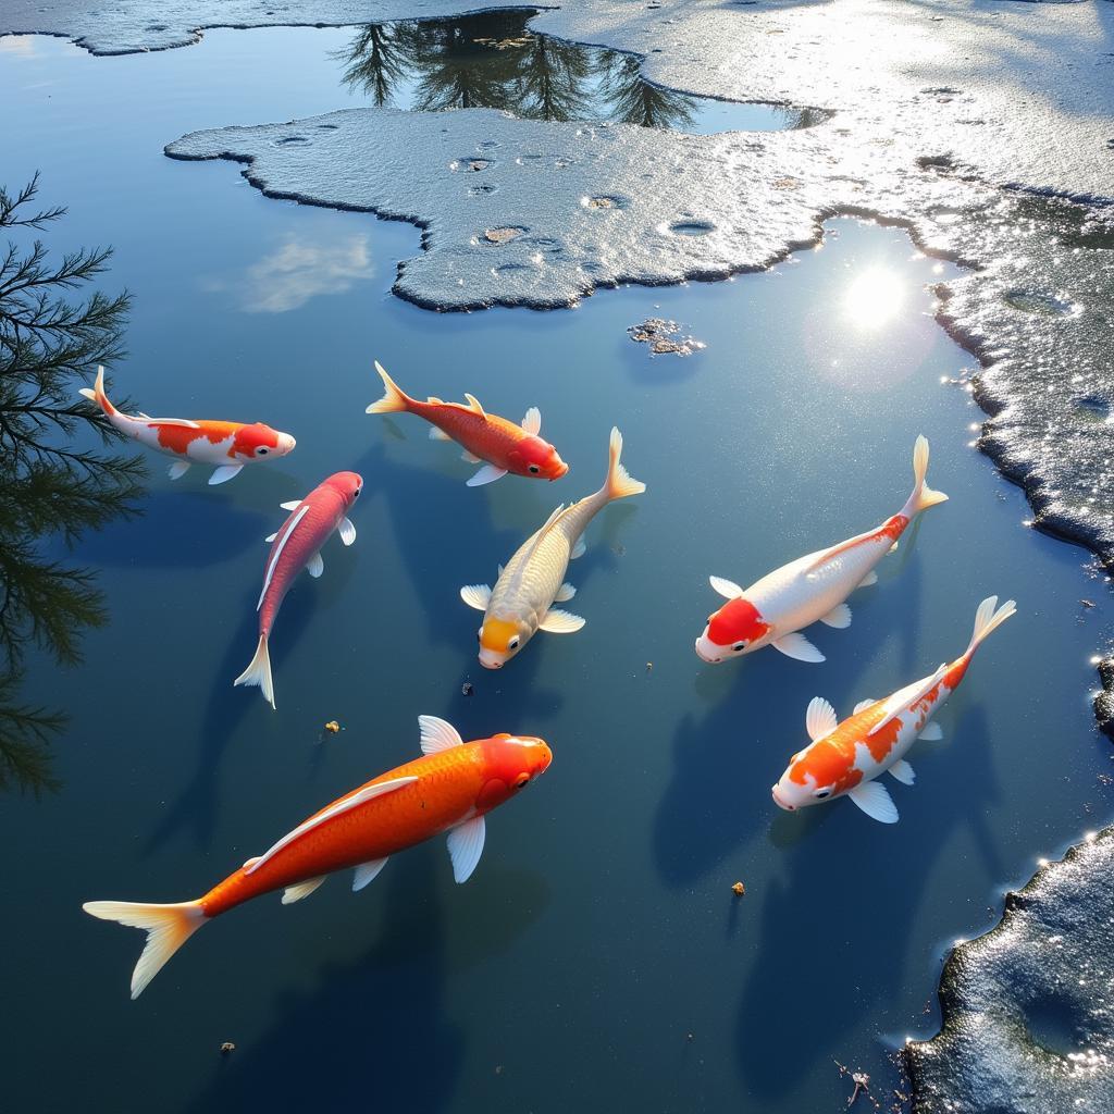
[[[990,596],[978,605],[975,632],[967,649],[931,676],[906,685],[886,700],[864,700],[851,716],[837,723],[836,711],[820,696],[810,704],[805,730],[812,742],[789,760],[773,786],[774,801],[786,812],[849,797],[874,820],[897,822],[898,810],[881,782],[889,773],[903,785],[913,783],[912,766],[905,756],[918,739],[942,739],[938,723],[929,722],[959,687],[971,656],[986,636],[1017,608],[1012,599],[998,607]],[[997,608],[997,609],[995,609]]]

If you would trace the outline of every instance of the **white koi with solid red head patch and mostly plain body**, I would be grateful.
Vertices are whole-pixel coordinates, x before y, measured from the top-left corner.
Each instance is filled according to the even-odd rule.
[[[856,588],[874,584],[874,566],[897,548],[909,524],[922,510],[948,498],[925,482],[928,441],[924,437],[917,438],[913,448],[912,471],[916,482],[906,505],[877,529],[799,557],[749,588],[710,577],[712,587],[729,603],[709,616],[704,633],[696,639],[697,655],[715,665],[773,646],[799,662],[824,661],[824,655],[799,632],[818,620],[837,629],[849,627],[851,608],[844,603],[847,597]]]

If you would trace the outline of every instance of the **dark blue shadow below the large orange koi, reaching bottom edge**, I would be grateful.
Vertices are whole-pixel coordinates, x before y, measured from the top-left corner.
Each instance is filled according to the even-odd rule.
[[[382,927],[367,952],[323,968],[313,989],[280,999],[268,1009],[271,1027],[224,1059],[185,1110],[320,1110],[323,1094],[329,1110],[367,1110],[369,1094],[371,1107],[384,1112],[449,1106],[466,1034],[444,1016],[447,912],[434,893],[414,900],[414,871],[443,867],[434,850],[388,864],[378,895]],[[405,1067],[419,1063],[429,1069]]]

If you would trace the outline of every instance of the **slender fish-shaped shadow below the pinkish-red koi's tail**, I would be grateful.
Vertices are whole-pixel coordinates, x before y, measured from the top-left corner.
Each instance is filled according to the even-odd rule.
[[[253,592],[252,602],[255,595]],[[281,671],[290,648],[301,638],[310,624],[315,600],[311,592],[291,592],[281,612],[282,637],[272,649],[271,666],[275,677],[275,702],[281,705]],[[243,619],[228,639],[228,646],[209,682],[209,697],[202,720],[197,761],[193,778],[172,801],[144,844],[144,854],[150,854],[178,831],[193,831],[196,846],[206,850],[216,830],[219,800],[221,762],[254,704],[262,703],[258,688],[234,687],[252,656],[258,638],[258,616],[244,597]],[[277,631],[280,624],[275,624]],[[271,709],[266,709],[268,715]]]

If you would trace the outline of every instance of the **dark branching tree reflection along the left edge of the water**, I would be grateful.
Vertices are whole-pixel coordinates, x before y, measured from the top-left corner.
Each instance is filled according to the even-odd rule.
[[[98,363],[123,355],[129,296],[69,300],[111,251],[52,262],[41,241],[26,242],[65,214],[38,209],[37,188],[38,176],[14,196],[0,188],[0,790],[33,793],[59,788],[51,741],[67,716],[21,698],[27,654],[76,665],[82,629],[107,619],[92,573],[46,550],[136,514],[143,494],[140,461],[107,451],[120,436],[77,395]]]

